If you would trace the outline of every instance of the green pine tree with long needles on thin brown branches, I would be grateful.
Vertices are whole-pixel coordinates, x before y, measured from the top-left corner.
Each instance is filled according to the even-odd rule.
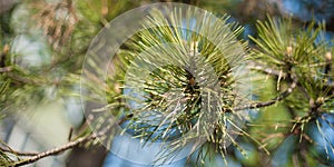
[[[333,138],[325,127],[333,130],[334,50],[324,38],[324,22],[267,17],[257,20],[257,33],[246,41],[243,27],[227,14],[166,4],[149,10],[141,22],[145,29],[112,50],[114,57],[107,55],[106,63],[99,55],[109,53],[101,51],[109,41],[89,42],[104,26],[110,37],[120,37],[107,20],[127,3],[104,2],[92,6],[96,9],[86,9],[90,2],[84,1],[22,2],[38,18],[37,24],[28,22],[28,33],[40,35],[38,27],[52,52],[50,62],[35,67],[10,51],[21,32],[1,22],[0,116],[20,116],[31,101],[52,100],[47,95],[50,87],[59,88],[58,97],[81,96],[86,111],[85,122],[63,146],[21,153],[0,140],[1,166],[31,164],[77,146],[110,148],[112,139],[125,134],[143,146],[161,144],[157,164],[187,149],[188,163],[197,166],[209,165],[217,154],[226,165],[229,157],[243,165],[265,165],[286,141],[293,144],[288,165],[333,163]],[[81,95],[70,90],[80,84]]]

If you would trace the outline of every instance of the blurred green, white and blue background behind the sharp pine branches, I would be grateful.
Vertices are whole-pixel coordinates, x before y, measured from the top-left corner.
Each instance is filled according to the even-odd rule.
[[[68,140],[70,129],[78,130],[85,120],[80,104],[79,79],[84,57],[92,38],[115,17],[154,2],[169,0],[0,0],[0,49],[9,48],[10,59],[1,57],[3,63],[17,63],[24,69],[26,78],[16,78],[17,84],[10,90],[11,100],[1,98],[0,139],[17,150],[38,151],[60,146]],[[266,17],[292,17],[293,21],[307,24],[313,19],[326,22],[328,41],[334,38],[334,0],[178,0],[212,11],[217,16],[227,13],[232,21],[245,28],[240,38],[257,35],[256,20]],[[253,45],[249,41],[250,46]],[[4,80],[1,84],[4,85]],[[24,85],[21,82],[29,82]],[[305,154],[311,166],[334,166],[334,109],[327,114],[328,122],[321,127],[327,140],[320,137],[315,125],[307,132],[318,143]],[[275,115],[275,118],[273,118]],[[272,125],[287,120],[288,111],[284,107],[266,108],[254,114],[255,121],[271,121]],[[320,121],[324,121],[321,119]],[[269,126],[248,129],[264,137]],[[301,149],[297,136],[283,138],[272,134],[269,147],[272,155],[258,153],[257,145],[238,139],[248,156],[229,148],[228,166],[296,166],[295,151]],[[119,145],[127,139],[115,140]],[[327,148],[327,149],[325,149]],[[330,150],[328,153],[326,153]],[[153,156],[140,155],[134,156]],[[195,155],[196,156],[196,155]],[[194,158],[195,158],[194,156]],[[185,166],[186,159],[166,166]],[[194,166],[195,164],[188,164]],[[298,164],[304,166],[304,164]],[[65,154],[45,158],[30,166],[50,167],[124,167],[143,166],[127,161],[108,153],[102,146],[91,148],[76,147]],[[225,166],[223,158],[204,166]]]

